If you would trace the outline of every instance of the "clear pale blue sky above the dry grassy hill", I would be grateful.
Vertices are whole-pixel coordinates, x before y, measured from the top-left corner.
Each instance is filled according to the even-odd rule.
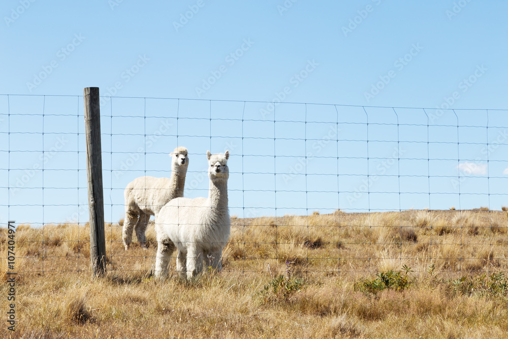
[[[474,0],[4,1],[0,222],[88,219],[87,86],[105,96],[108,221],[121,217],[126,183],[169,175],[177,144],[191,153],[189,197],[207,194],[206,151],[231,150],[240,217],[500,209],[507,10]]]

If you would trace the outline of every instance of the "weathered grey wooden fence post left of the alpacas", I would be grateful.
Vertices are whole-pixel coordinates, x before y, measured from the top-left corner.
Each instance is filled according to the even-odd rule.
[[[90,261],[92,277],[96,277],[106,272],[99,87],[84,88],[83,101],[85,104],[86,177],[90,215]]]

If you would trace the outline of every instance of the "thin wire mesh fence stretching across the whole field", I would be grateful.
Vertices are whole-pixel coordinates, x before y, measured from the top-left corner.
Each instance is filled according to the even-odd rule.
[[[102,97],[107,269],[152,270],[153,217],[148,249],[124,250],[124,189],[184,146],[189,198],[208,196],[206,152],[230,152],[225,270],[505,270],[506,113]],[[19,273],[88,272],[83,97],[0,96],[0,138],[2,250],[16,220]]]

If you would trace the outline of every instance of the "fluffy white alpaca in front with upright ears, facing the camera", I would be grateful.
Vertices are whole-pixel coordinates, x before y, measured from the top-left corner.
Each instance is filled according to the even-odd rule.
[[[208,198],[176,198],[155,215],[157,257],[155,276],[168,275],[170,255],[178,249],[176,269],[187,279],[201,272],[203,260],[220,270],[224,246],[229,240],[231,221],[228,211],[228,158],[224,155],[208,157],[210,189]]]

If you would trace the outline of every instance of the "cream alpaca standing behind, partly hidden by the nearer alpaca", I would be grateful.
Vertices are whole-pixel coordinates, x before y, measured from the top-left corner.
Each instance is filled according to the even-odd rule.
[[[150,215],[158,211],[169,201],[183,197],[185,175],[189,159],[185,147],[176,147],[169,155],[172,157],[171,178],[142,176],[131,181],[123,192],[125,198],[125,220],[123,221],[122,238],[125,251],[129,250],[133,228],[138,242],[147,248],[146,226]]]

